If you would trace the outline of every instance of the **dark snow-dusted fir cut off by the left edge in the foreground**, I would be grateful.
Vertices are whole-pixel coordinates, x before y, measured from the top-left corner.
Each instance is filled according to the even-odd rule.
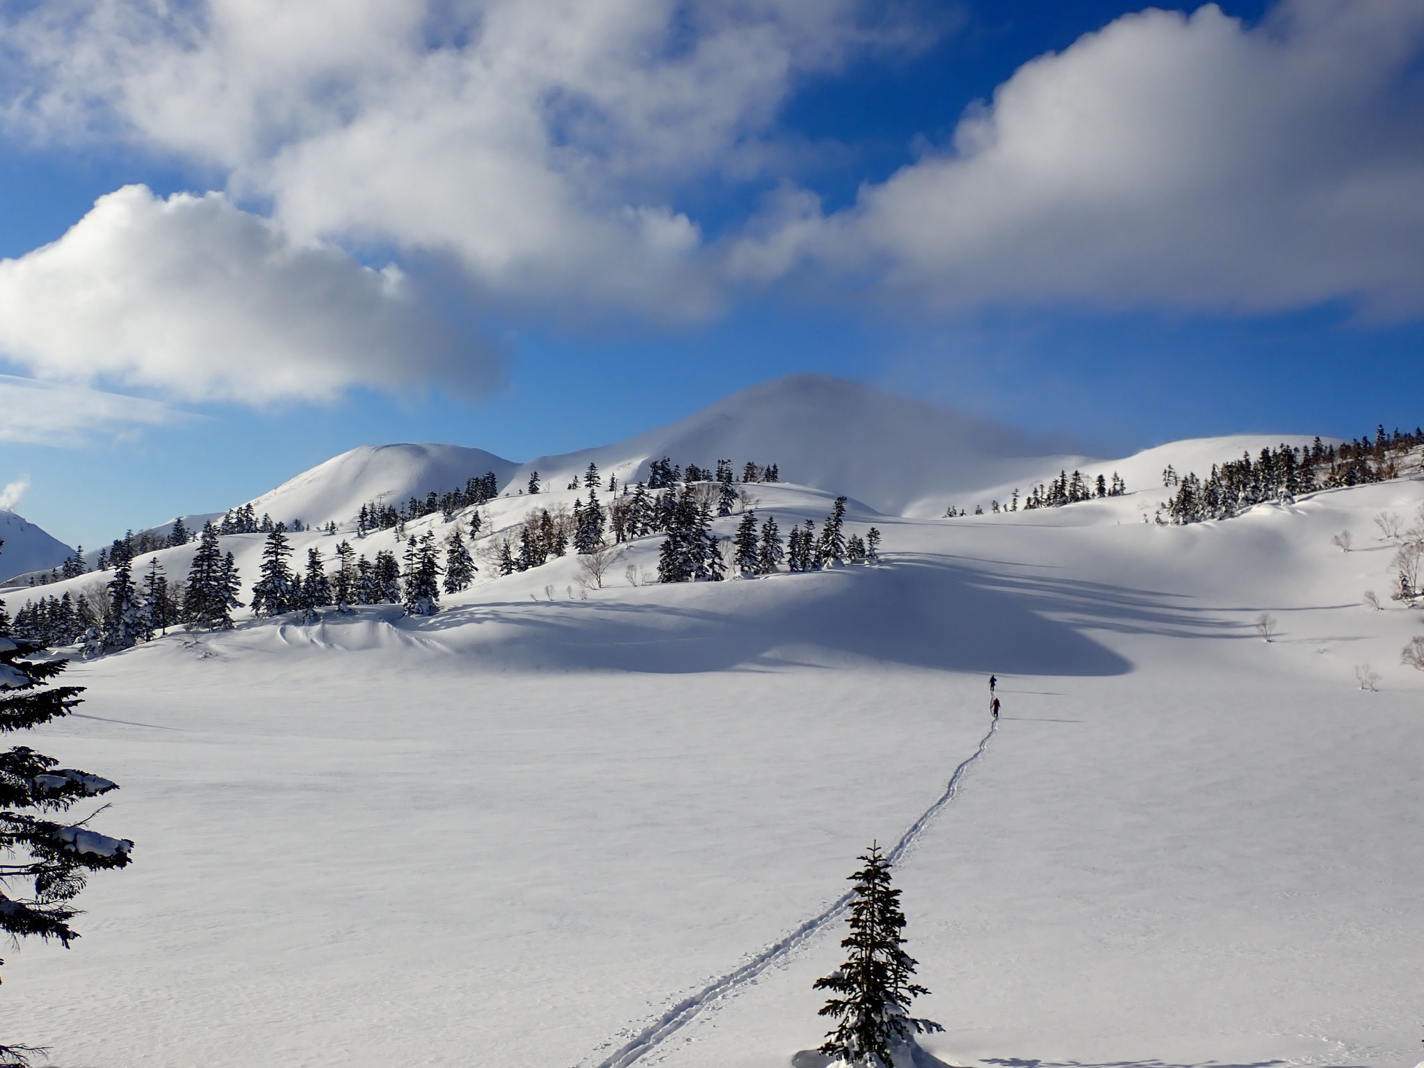
[[[47,685],[67,661],[26,659],[38,649],[0,635],[0,733],[40,726],[80,703],[80,686]],[[36,937],[68,947],[78,937],[70,927],[77,914],[70,901],[84,889],[87,873],[124,867],[134,847],[128,839],[85,829],[87,819],[48,819],[118,789],[108,779],[57,763],[23,745],[0,752],[0,934],[16,943]],[[24,1065],[31,1054],[43,1052],[0,1037],[0,1067]]]

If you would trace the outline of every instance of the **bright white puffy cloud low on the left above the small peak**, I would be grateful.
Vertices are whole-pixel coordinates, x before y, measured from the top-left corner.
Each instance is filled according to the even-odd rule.
[[[221,194],[131,185],[53,245],[0,261],[0,352],[40,377],[184,400],[488,383],[498,367],[460,350],[409,289]]]

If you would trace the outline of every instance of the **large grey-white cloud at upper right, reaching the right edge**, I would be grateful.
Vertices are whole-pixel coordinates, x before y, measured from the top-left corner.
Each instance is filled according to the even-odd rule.
[[[1424,6],[1293,0],[1118,19],[1025,64],[953,145],[731,252],[938,306],[1424,312]]]

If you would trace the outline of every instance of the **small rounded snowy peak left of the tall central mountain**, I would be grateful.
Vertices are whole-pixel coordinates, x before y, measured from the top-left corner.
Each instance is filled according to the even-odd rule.
[[[356,518],[360,506],[384,500],[403,506],[412,496],[463,488],[471,477],[494,471],[503,484],[514,464],[483,449],[450,444],[360,446],[332,457],[252,501],[261,517],[319,525]]]

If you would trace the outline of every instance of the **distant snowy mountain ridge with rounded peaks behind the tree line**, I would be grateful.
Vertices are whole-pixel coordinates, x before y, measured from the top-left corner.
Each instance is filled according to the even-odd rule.
[[[886,514],[937,517],[950,504],[973,510],[975,504],[988,508],[991,500],[1007,503],[1014,488],[1028,493],[1061,470],[1119,471],[1131,490],[1142,490],[1161,486],[1169,463],[1205,474],[1212,463],[1239,459],[1243,450],[1255,456],[1266,446],[1309,440],[1246,434],[1178,441],[1118,460],[1057,454],[985,420],[843,379],[793,375],[624,441],[521,464],[459,446],[363,446],[303,471],[252,506],[258,515],[269,513],[285,523],[343,523],[366,501],[380,497],[400,506],[430,490],[457,488],[486,471],[496,473],[501,491],[517,496],[534,471],[547,490],[581,477],[590,463],[605,484],[609,474],[629,483],[646,478],[648,464],[666,456],[705,468],[729,459],[738,471],[748,460],[775,463],[783,481],[843,493]]]

